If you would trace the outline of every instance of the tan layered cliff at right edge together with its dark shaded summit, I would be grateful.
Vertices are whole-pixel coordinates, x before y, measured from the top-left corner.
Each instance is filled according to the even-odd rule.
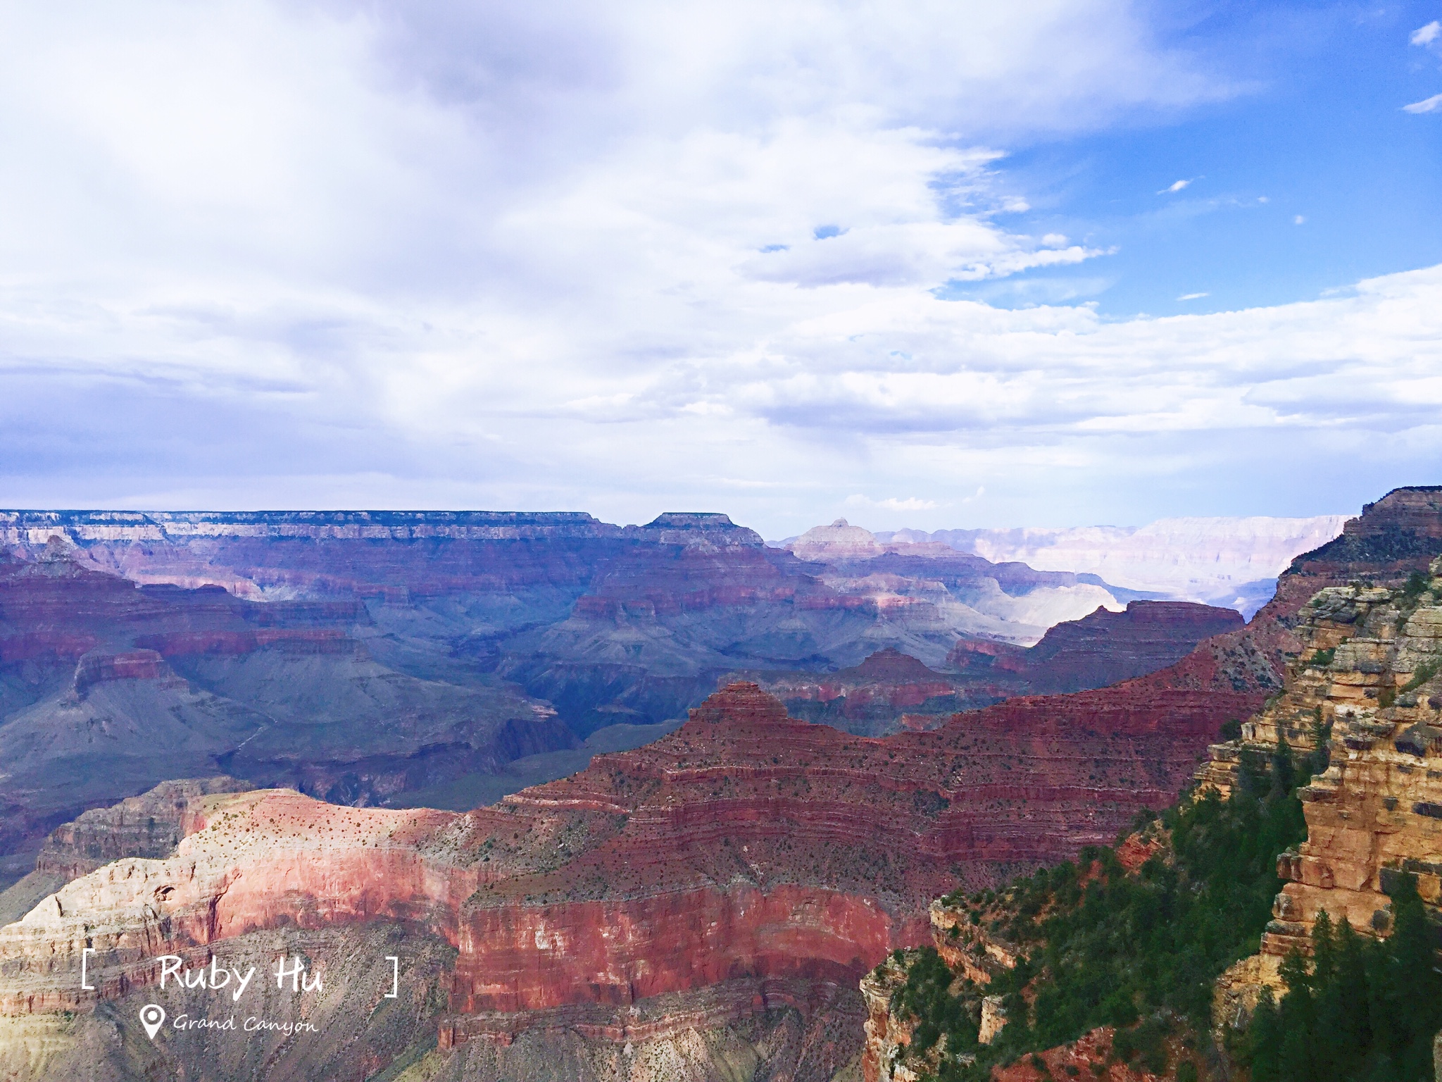
[[[1429,905],[1442,900],[1442,843],[1429,815],[1442,772],[1428,766],[1442,724],[1439,554],[1442,489],[1394,489],[1280,580],[1276,603],[1305,599],[1286,691],[1243,724],[1239,740],[1210,750],[1198,780],[1226,793],[1249,772],[1265,778],[1283,740],[1293,755],[1325,749],[1330,766],[1302,791],[1308,837],[1279,861],[1289,881],[1262,952],[1217,984],[1217,1026],[1244,1023],[1260,990],[1280,987],[1282,958],[1309,949],[1321,910],[1386,933],[1386,887],[1397,873],[1416,874]]]

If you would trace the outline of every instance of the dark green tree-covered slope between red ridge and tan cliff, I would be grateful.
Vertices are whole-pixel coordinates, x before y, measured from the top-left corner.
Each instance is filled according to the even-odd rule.
[[[949,896],[1022,958],[982,988],[956,978],[933,949],[911,952],[893,1007],[916,1020],[913,1066],[934,1060],[939,1082],[979,1079],[994,1063],[1116,1026],[1125,1030],[1116,1053],[1159,1072],[1168,1032],[1206,1034],[1213,981],[1257,949],[1280,889],[1276,856],[1305,835],[1295,795],[1305,779],[1289,750],[1279,749],[1270,770],[1257,766],[1227,801],[1208,792],[1162,812],[1146,832],[1168,844],[1135,873],[1115,850],[1093,848],[1080,864],[1037,871],[995,899]],[[982,995],[1002,995],[1009,1019],[986,1047],[976,1042]]]

